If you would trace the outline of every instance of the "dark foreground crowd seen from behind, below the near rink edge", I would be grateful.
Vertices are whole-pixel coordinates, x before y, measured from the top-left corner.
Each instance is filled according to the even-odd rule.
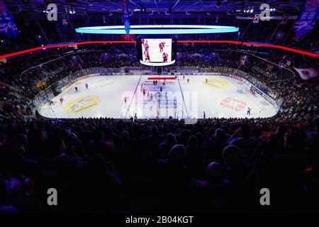
[[[286,212],[318,203],[318,119],[0,121],[0,211]],[[52,187],[57,208],[46,204]],[[259,204],[264,187],[272,209]]]

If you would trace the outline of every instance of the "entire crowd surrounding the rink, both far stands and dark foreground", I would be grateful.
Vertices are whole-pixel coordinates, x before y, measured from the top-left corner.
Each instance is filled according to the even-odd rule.
[[[65,55],[62,50],[1,66],[1,81],[20,92],[1,89],[0,211],[268,211],[259,204],[264,187],[272,192],[272,211],[313,211],[319,199],[317,83],[303,82],[298,74],[292,77],[252,55],[242,63],[242,52],[183,45],[181,58],[169,69],[242,70],[279,92],[280,113],[273,118],[203,119],[193,125],[177,119],[37,116],[24,121],[42,89],[35,86],[39,80],[47,87],[89,67],[139,66],[129,55],[134,45],[85,48],[53,63],[43,64]],[[194,50],[218,56],[189,59],[187,53]],[[118,56],[122,53],[127,57]],[[284,59],[282,53],[266,58],[277,64]],[[286,59],[293,66],[308,63],[289,54]],[[41,66],[21,75],[35,65]],[[57,208],[46,204],[52,187],[60,196]]]

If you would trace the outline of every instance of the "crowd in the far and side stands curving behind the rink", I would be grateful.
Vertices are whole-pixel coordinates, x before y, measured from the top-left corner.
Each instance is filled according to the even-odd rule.
[[[147,68],[140,65],[136,55],[132,55],[135,53],[135,45],[108,45],[107,48],[107,51],[103,51],[99,45],[84,45],[79,46],[77,50],[71,48],[70,51],[70,49],[62,50],[60,48],[39,52],[39,55],[29,54],[17,57],[1,65],[1,81],[18,87],[21,91],[18,96],[32,100],[35,94],[44,87],[55,84],[78,70],[90,67]],[[179,67],[196,67],[198,70],[230,67],[247,73],[246,79],[264,92],[268,92],[267,94],[271,94],[275,99],[279,97],[284,99],[282,105],[284,117],[290,119],[291,116],[296,116],[298,113],[297,117],[303,118],[315,116],[318,113],[318,103],[315,101],[315,97],[318,95],[316,84],[304,83],[297,72],[291,72],[293,67],[318,68],[318,62],[312,59],[298,57],[287,52],[271,52],[270,55],[265,56],[267,60],[274,62],[271,64],[250,54],[258,53],[245,54],[245,52],[232,50],[232,48],[228,50],[216,49],[215,45],[201,44],[179,45],[178,52],[180,55],[177,55],[177,64],[167,67],[166,70],[176,70]],[[242,57],[245,55],[247,57],[243,60]],[[289,65],[287,62],[290,62]],[[39,82],[41,83],[39,84]],[[18,105],[16,101],[19,99],[6,95],[2,99],[6,99],[6,106],[12,106],[11,109],[16,109],[16,106],[28,106],[26,103],[31,103],[31,101],[23,100]],[[298,111],[294,111],[294,108],[297,107],[294,106],[294,101],[298,104]],[[2,100],[3,102],[4,100]],[[18,111],[19,114],[26,112],[31,114],[30,106],[26,109],[22,107],[21,111]],[[16,114],[16,111],[13,113],[1,111],[1,114],[3,116],[10,114],[11,116]]]

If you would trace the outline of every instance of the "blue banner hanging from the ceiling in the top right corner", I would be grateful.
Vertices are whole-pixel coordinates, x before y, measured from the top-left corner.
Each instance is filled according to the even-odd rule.
[[[294,31],[297,38],[301,38],[308,32],[313,30],[315,22],[319,16],[319,1],[318,0],[307,0],[303,5],[303,9],[295,23]]]

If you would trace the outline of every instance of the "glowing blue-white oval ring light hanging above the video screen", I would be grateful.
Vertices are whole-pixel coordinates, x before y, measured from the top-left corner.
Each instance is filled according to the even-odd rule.
[[[76,28],[77,33],[124,35],[124,26],[95,26]],[[237,27],[233,26],[200,26],[200,25],[152,25],[130,26],[130,34],[135,35],[161,35],[161,34],[203,34],[203,33],[235,33]]]

